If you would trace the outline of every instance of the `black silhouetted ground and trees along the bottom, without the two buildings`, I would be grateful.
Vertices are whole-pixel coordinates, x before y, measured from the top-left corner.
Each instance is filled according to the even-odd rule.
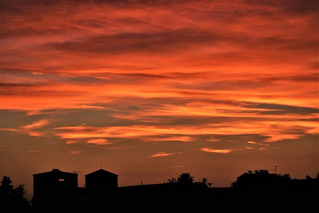
[[[1,181],[1,213],[290,213],[315,212],[319,201],[319,174],[297,180],[267,170],[248,171],[230,188],[211,188],[206,178],[194,182],[189,173],[112,191],[50,188],[35,195],[32,206],[23,185],[11,182],[5,176]]]

